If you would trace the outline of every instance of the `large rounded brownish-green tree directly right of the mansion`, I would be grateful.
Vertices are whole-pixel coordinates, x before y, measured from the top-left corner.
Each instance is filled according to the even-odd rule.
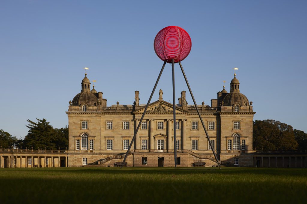
[[[296,150],[298,143],[291,125],[256,120],[253,123],[253,146],[257,150]]]

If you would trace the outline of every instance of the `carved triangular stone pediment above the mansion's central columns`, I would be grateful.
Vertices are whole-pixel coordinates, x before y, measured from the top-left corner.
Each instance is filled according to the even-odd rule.
[[[138,110],[135,110],[134,113],[135,114],[140,114],[140,113],[143,113],[145,110],[145,107],[141,108],[141,109],[138,109]],[[149,113],[149,114],[173,114],[173,104],[169,103],[169,102],[166,102],[166,101],[156,101],[156,102],[153,102],[151,103],[148,108],[147,108],[147,111],[146,113]],[[176,114],[177,113],[188,113],[187,111],[185,110],[181,110],[179,108],[176,107]]]

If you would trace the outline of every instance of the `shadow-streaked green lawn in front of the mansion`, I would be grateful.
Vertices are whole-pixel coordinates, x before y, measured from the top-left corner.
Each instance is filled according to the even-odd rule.
[[[307,169],[0,169],[0,203],[306,203]]]

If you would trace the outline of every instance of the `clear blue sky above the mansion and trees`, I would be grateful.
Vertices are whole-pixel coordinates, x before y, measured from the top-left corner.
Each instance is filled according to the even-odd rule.
[[[163,62],[157,32],[184,28],[192,50],[182,61],[197,103],[240,91],[255,120],[274,119],[307,132],[306,1],[0,1],[0,129],[20,137],[26,120],[68,124],[68,101],[80,92],[83,67],[108,106],[146,103]],[[171,65],[157,86],[172,100]],[[188,91],[178,65],[176,98]],[[188,95],[188,94],[187,94]],[[155,92],[152,101],[158,99]],[[187,101],[192,104],[191,97]]]

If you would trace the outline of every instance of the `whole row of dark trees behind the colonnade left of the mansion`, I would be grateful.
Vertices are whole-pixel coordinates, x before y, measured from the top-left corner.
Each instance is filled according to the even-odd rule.
[[[2,148],[17,147],[21,149],[56,150],[68,147],[68,127],[53,128],[45,118],[36,119],[37,122],[27,120],[28,134],[23,139],[17,139],[8,132],[0,130],[0,146]]]

